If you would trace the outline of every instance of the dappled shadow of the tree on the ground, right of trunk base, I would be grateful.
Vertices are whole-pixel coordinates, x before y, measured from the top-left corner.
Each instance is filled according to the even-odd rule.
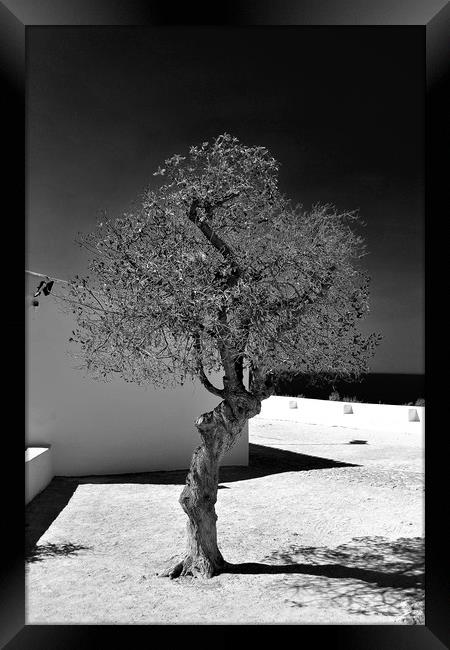
[[[293,607],[424,624],[423,538],[361,537],[337,548],[290,546],[264,559],[271,563],[231,564],[226,572],[285,574],[271,589]]]

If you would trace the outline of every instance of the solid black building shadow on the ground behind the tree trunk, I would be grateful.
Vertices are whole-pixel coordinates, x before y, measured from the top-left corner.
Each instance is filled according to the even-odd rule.
[[[339,467],[358,467],[318,456],[307,456],[263,445],[249,445],[248,466],[220,468],[220,482],[232,483],[260,478],[281,472],[303,472]],[[31,557],[37,541],[66,507],[78,485],[86,483],[142,483],[153,485],[184,485],[188,470],[114,474],[106,476],[56,476],[43,492],[38,494],[25,510],[25,557]],[[219,489],[229,488],[220,485]]]

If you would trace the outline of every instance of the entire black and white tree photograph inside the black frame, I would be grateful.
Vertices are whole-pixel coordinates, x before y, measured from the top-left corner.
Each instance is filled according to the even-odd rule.
[[[424,626],[423,29],[26,47],[26,625]]]

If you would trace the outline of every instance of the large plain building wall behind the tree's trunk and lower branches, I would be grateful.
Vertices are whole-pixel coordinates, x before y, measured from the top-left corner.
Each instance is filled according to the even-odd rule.
[[[36,311],[30,302],[28,294],[26,446],[51,445],[55,475],[188,467],[200,443],[193,422],[219,398],[200,384],[157,391],[86,377],[66,354],[71,318],[52,296]],[[223,464],[248,464],[248,428]]]

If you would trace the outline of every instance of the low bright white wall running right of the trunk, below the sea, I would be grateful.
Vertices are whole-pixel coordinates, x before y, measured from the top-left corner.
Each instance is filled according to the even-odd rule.
[[[294,405],[296,408],[291,408]],[[415,432],[424,428],[425,407],[272,396],[263,401],[256,417],[354,429]]]

